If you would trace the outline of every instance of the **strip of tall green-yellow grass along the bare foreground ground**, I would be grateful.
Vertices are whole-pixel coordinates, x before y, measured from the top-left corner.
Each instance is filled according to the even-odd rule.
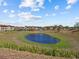
[[[14,43],[5,43],[2,45],[0,44],[0,48],[15,49],[18,51],[29,51],[32,53],[38,53],[38,54],[44,54],[50,56],[79,58],[79,52],[70,49],[43,48],[30,44],[16,45]]]

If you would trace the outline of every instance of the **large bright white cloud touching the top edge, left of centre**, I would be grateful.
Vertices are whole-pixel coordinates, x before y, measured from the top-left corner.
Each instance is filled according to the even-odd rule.
[[[19,8],[27,8],[30,7],[32,10],[37,8],[44,8],[44,0],[22,0]]]

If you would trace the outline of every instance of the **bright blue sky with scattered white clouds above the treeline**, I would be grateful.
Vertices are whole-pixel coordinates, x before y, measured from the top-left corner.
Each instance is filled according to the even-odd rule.
[[[73,26],[79,22],[79,0],[0,0],[0,24]]]

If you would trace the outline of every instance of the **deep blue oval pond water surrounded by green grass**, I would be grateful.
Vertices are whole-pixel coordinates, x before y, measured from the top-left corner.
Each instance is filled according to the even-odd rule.
[[[59,42],[59,39],[51,37],[47,34],[29,34],[26,36],[26,39],[32,42],[43,43],[43,44],[56,44]]]

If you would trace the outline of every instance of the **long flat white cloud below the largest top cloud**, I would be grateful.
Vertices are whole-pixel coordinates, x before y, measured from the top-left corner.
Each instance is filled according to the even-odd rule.
[[[22,12],[22,13],[19,13],[18,16],[25,20],[38,20],[42,18],[41,16],[32,15],[30,12],[28,13]]]

